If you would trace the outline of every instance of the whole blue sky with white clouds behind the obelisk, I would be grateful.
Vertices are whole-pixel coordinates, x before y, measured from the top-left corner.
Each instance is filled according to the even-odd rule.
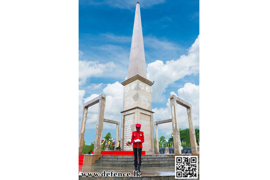
[[[168,98],[176,94],[192,104],[199,128],[199,1],[139,1],[147,76],[152,86],[154,121],[170,119]],[[121,122],[123,87],[128,74],[137,0],[79,1],[79,128],[82,104],[107,95],[104,118]],[[97,105],[88,109],[85,142],[95,139]],[[179,128],[188,128],[184,107],[178,106]],[[170,137],[170,123],[159,125],[159,137]],[[104,123],[103,136],[116,135]],[[181,137],[180,137],[181,138]]]

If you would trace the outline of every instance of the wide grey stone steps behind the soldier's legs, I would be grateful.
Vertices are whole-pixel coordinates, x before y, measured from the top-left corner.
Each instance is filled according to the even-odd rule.
[[[134,167],[133,155],[103,155],[92,167]],[[175,166],[173,155],[142,155],[142,167]]]

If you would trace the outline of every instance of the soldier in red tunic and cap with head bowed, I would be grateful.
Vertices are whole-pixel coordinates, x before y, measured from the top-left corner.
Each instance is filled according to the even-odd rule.
[[[133,143],[133,154],[134,154],[134,167],[135,171],[137,171],[137,164],[138,164],[138,149],[137,149],[137,142],[139,142],[139,164],[138,164],[138,172],[140,173],[140,167],[141,167],[141,156],[142,156],[142,149],[143,145],[142,143],[144,142],[144,135],[143,132],[140,131],[141,125],[136,124],[136,131],[132,132],[132,137],[131,137],[131,143]]]

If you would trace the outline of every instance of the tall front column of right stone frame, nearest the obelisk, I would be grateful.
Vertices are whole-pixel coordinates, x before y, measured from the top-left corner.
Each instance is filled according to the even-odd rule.
[[[176,103],[176,96],[170,95],[170,104],[171,104],[171,113],[172,113],[172,125],[173,125],[173,147],[174,147],[174,154],[181,155],[181,140],[180,140],[180,133],[179,133],[179,125],[178,125],[178,116],[177,116],[177,103]]]

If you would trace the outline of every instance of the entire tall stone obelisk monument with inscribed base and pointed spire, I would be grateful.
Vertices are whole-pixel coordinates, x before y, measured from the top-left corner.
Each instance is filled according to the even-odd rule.
[[[146,63],[143,46],[143,30],[141,23],[140,3],[137,2],[131,50],[128,65],[128,79],[121,82],[124,85],[124,102],[121,120],[121,147],[128,150],[126,143],[131,141],[132,131],[137,123],[141,124],[144,132],[143,151],[155,154],[154,149],[154,120],[152,112],[151,86],[154,84],[147,79]]]

